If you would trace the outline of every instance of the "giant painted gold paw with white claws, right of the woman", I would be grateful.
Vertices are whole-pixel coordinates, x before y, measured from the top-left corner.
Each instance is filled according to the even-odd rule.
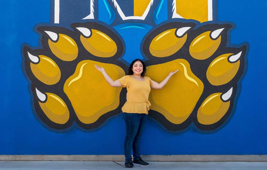
[[[247,46],[227,46],[232,25],[195,26],[170,22],[143,40],[148,77],[161,82],[179,69],[163,89],[150,92],[149,116],[168,131],[184,130],[192,122],[202,131],[224,124],[244,73]]]

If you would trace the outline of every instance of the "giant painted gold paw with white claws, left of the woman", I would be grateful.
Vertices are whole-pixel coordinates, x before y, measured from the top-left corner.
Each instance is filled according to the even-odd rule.
[[[110,87],[94,65],[103,66],[113,80],[124,76],[127,66],[117,60],[123,42],[115,30],[96,22],[71,27],[74,31],[41,26],[42,48],[23,47],[34,110],[52,129],[66,129],[73,122],[96,129],[120,113],[126,90]]]

